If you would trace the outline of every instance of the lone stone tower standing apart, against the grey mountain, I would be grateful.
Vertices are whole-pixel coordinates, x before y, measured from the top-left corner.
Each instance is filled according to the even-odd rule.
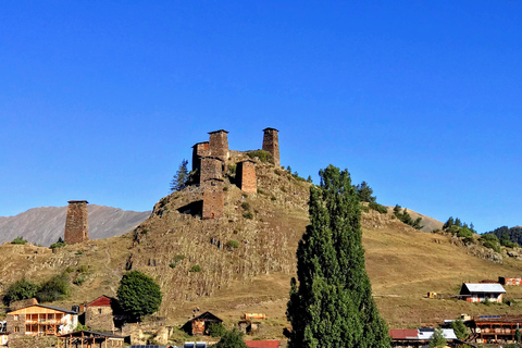
[[[86,200],[70,200],[65,220],[64,241],[77,244],[89,240],[89,222]]]

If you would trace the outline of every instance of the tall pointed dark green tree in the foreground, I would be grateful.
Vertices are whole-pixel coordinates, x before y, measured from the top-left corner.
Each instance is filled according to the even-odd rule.
[[[310,187],[310,225],[297,248],[287,318],[290,348],[389,347],[364,269],[359,198],[348,171],[330,165]]]

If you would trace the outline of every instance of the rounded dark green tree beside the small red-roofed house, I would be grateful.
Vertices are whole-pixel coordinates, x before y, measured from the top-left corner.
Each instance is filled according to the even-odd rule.
[[[122,309],[137,320],[156,312],[163,298],[160,286],[139,271],[130,271],[123,275],[116,296]]]

